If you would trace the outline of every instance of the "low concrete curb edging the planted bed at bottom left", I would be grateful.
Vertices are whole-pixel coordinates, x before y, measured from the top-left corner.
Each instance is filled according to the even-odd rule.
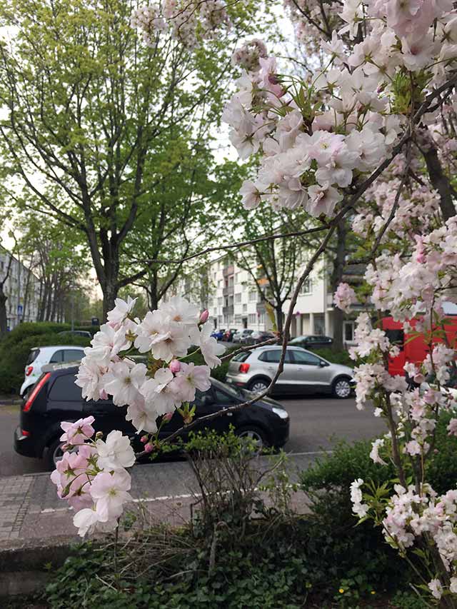
[[[60,567],[77,540],[68,536],[0,543],[0,598],[42,590],[51,575],[45,565]]]

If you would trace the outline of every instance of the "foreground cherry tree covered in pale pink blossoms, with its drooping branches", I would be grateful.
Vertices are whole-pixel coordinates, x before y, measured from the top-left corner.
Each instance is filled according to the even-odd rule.
[[[355,372],[356,403],[363,408],[371,400],[374,414],[386,421],[388,433],[373,443],[371,457],[380,466],[391,459],[398,475],[391,488],[356,480],[351,488],[354,513],[373,518],[402,555],[416,550],[429,573],[423,588],[431,600],[457,607],[457,490],[437,496],[426,480],[438,417],[456,406],[441,388],[449,368],[456,366],[455,346],[444,331],[443,303],[457,287],[457,193],[452,181],[457,14],[451,0],[285,4],[297,44],[308,54],[307,76],[291,74],[290,66],[280,73],[262,41],[246,41],[233,55],[242,73],[223,113],[240,158],[256,155],[259,162],[256,176],[241,187],[243,205],[255,208],[266,201],[275,209],[301,206],[322,231],[291,298],[276,378],[303,281],[347,216],[353,231],[364,238],[361,260],[367,265],[368,301],[376,309],[376,315],[371,309],[358,318],[358,344],[351,355],[365,358],[365,363]],[[134,24],[143,30],[146,44],[154,31],[166,30],[187,47],[198,47],[231,26],[222,0],[165,1],[141,9]],[[342,284],[335,301],[348,310],[356,295]],[[110,393],[115,403],[127,404],[134,426],[146,431],[145,451],[150,451],[158,416],[160,424],[179,408],[184,423],[194,424],[189,403],[195,388],[209,386],[209,368],[219,363],[219,352],[209,338],[206,315],[199,318],[189,303],[178,298],[143,321],[133,318],[133,304],[119,301],[111,311],[77,382],[88,398]],[[398,346],[382,329],[386,313],[406,331],[421,331],[428,342],[421,366],[406,365],[408,376],[421,385],[413,391],[404,376],[388,373],[388,358],[398,353]],[[191,343],[199,346],[207,366],[179,361]],[[131,344],[150,354],[148,366],[122,357]],[[431,387],[421,384],[429,373],[434,377]],[[76,429],[90,436],[90,428],[84,432],[87,424],[75,424],[71,434]],[[64,440],[74,445],[68,433]],[[457,433],[455,418],[449,433]],[[81,457],[86,459],[81,488],[79,483],[73,486],[73,473],[70,480],[65,478],[79,470],[66,465],[60,466],[66,468],[63,479],[57,479],[61,495],[69,500],[78,493],[88,495],[86,512],[75,516],[83,533],[89,526],[114,525],[128,490],[118,467],[129,465],[131,453],[124,452],[117,436],[107,438],[106,445],[101,442],[80,448],[80,453],[83,448],[91,451]],[[105,460],[106,453],[112,461]],[[125,453],[123,460],[119,456]],[[71,458],[77,457],[65,457]],[[119,494],[111,513],[106,505],[111,491],[105,483]]]

